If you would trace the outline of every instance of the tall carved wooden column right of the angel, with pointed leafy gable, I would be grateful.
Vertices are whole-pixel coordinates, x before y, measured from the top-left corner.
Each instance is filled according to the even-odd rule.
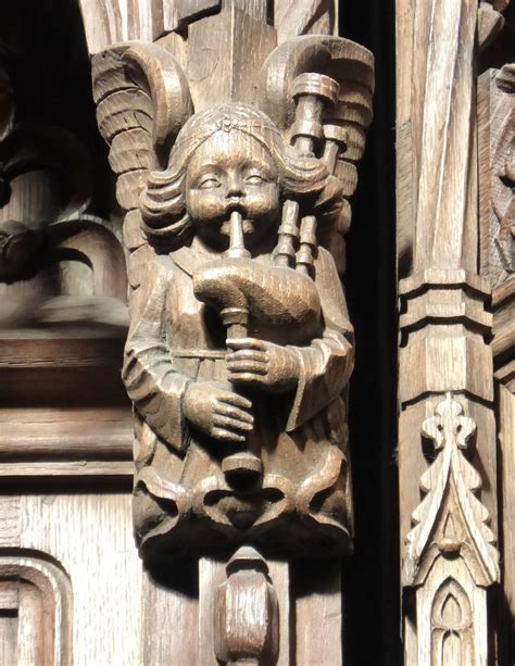
[[[400,224],[407,211],[414,224],[403,235],[412,274],[400,285],[399,464],[403,585],[416,589],[414,604],[405,595],[405,659],[486,664],[486,589],[499,580],[499,555],[490,286],[477,268],[477,2],[418,0],[411,23],[403,18],[413,50],[400,72],[414,85],[410,111],[400,106],[399,168],[406,151],[412,167],[411,181],[399,172]],[[461,449],[475,428],[466,462]],[[427,438],[437,444],[432,465]]]

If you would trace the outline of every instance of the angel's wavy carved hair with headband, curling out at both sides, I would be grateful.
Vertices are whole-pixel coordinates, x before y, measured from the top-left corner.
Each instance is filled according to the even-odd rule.
[[[239,103],[201,111],[177,136],[167,168],[151,172],[141,194],[141,225],[154,248],[171,251],[190,241],[186,171],[194,151],[217,131],[240,131],[267,150],[278,169],[281,198],[318,197],[326,188],[330,177],[324,164],[296,153],[261,111]]]

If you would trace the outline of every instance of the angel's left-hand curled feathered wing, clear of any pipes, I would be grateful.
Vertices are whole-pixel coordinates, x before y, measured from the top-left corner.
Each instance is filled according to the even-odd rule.
[[[174,56],[153,43],[126,42],[92,59],[93,98],[100,134],[117,176],[116,199],[125,212],[124,240],[131,266],[151,252],[140,229],[139,198],[150,169],[165,168],[174,141],[192,114],[186,76]]]

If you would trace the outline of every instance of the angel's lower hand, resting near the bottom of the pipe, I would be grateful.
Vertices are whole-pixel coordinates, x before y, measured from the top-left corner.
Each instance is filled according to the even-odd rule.
[[[183,399],[186,418],[215,439],[244,442],[252,430],[252,403],[217,381],[192,381]]]

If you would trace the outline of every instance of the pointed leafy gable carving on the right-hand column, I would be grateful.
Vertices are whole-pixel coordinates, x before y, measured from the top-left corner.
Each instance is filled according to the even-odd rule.
[[[434,440],[439,453],[420,478],[420,489],[426,494],[412,516],[414,527],[406,539],[404,585],[419,585],[439,554],[461,554],[468,561],[476,582],[490,585],[499,580],[499,553],[488,527],[489,513],[476,497],[481,477],[463,454],[476,424],[463,415],[462,405],[448,393],[422,430]],[[437,532],[442,538],[435,543]]]

